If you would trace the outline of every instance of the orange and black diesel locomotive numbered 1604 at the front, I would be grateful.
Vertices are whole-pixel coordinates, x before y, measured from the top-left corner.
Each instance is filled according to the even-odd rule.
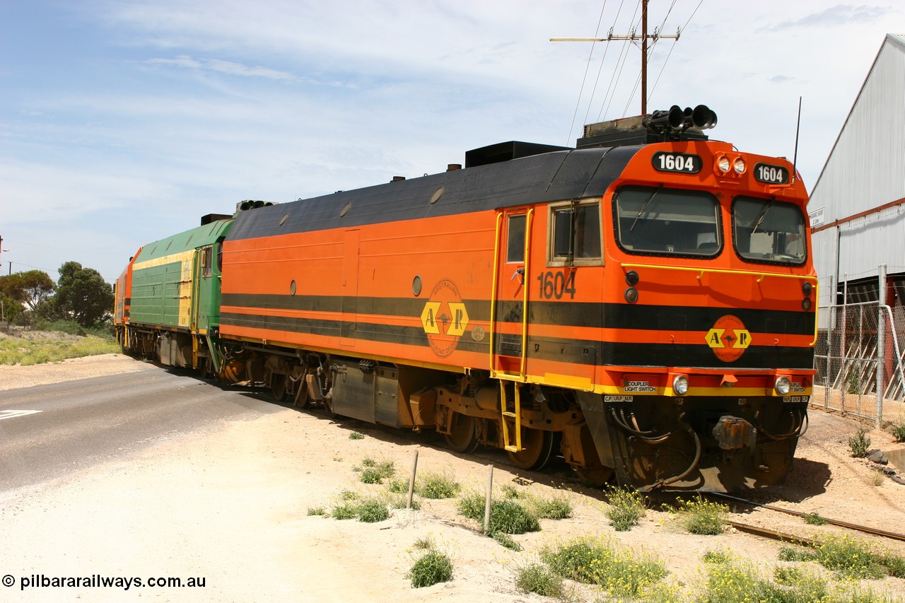
[[[165,361],[591,483],[781,483],[814,375],[807,196],[715,120],[673,107],[239,211],[219,323],[168,333]]]

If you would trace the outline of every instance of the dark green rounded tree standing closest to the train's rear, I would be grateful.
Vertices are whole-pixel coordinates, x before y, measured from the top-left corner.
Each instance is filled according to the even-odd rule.
[[[93,327],[113,308],[113,287],[93,268],[67,262],[60,266],[60,280],[53,305],[83,327]]]

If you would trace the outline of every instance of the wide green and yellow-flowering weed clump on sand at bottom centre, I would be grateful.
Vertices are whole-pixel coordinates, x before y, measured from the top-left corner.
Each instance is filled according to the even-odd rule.
[[[646,556],[634,559],[609,542],[594,538],[578,538],[556,548],[545,548],[540,551],[540,559],[557,575],[597,584],[616,597],[637,598],[667,573],[660,560]]]

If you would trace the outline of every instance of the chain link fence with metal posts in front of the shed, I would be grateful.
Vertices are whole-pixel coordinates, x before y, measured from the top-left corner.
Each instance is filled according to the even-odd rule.
[[[876,426],[905,423],[902,306],[894,311],[879,302],[821,306],[818,317],[813,403]]]

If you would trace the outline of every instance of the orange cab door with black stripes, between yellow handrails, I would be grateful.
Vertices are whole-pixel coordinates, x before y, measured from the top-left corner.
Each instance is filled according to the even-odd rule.
[[[497,215],[491,300],[491,376],[525,380],[534,209]]]

